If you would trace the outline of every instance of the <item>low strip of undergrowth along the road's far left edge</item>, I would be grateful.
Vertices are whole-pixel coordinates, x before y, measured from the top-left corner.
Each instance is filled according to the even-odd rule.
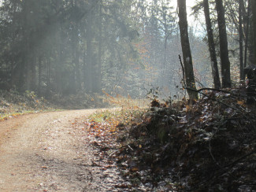
[[[55,111],[63,109],[100,109],[120,107],[122,109],[139,109],[145,105],[143,99],[132,99],[117,94],[110,96],[106,92],[101,94],[87,94],[80,91],[69,96],[54,94],[51,98],[38,97],[34,91],[27,90],[20,94],[15,90],[0,90],[0,120],[9,116],[20,116],[27,113]]]

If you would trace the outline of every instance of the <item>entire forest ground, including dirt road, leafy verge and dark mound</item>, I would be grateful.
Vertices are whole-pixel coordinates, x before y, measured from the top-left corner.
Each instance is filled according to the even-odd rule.
[[[201,96],[4,118],[0,190],[256,191],[255,105]]]

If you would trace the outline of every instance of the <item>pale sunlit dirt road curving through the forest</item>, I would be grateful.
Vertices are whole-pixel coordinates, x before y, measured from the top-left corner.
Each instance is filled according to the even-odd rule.
[[[38,113],[1,122],[0,191],[111,191],[102,172],[91,166],[94,156],[85,131],[73,125],[95,111]]]

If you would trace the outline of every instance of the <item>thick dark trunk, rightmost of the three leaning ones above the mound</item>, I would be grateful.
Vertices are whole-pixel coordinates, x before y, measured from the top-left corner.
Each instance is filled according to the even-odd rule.
[[[220,51],[221,51],[221,79],[222,87],[231,87],[230,61],[228,57],[228,37],[226,21],[224,17],[224,6],[222,0],[216,0],[217,23],[219,27]]]

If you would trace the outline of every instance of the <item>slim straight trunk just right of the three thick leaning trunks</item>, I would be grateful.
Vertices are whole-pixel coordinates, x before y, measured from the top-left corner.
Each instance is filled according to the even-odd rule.
[[[243,17],[242,17],[243,0],[239,0],[239,61],[240,61],[240,80],[244,80],[243,65]]]

